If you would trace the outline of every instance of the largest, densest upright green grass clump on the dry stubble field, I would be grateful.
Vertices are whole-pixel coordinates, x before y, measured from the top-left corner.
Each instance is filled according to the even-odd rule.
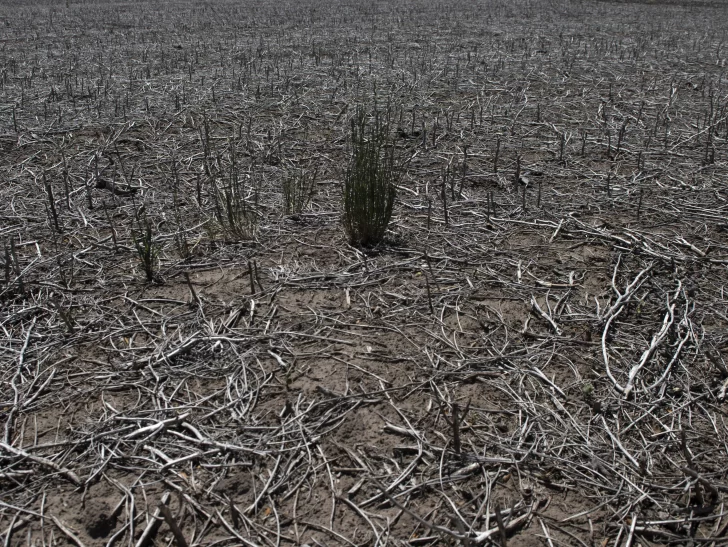
[[[344,175],[344,229],[352,245],[381,242],[392,217],[402,167],[395,157],[389,124],[363,108],[351,120],[351,162]]]

